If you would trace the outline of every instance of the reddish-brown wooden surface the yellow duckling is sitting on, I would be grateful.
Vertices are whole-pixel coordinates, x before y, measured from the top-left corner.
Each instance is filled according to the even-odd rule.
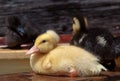
[[[94,77],[63,77],[23,72],[0,75],[0,81],[120,81],[120,72],[103,72]]]

